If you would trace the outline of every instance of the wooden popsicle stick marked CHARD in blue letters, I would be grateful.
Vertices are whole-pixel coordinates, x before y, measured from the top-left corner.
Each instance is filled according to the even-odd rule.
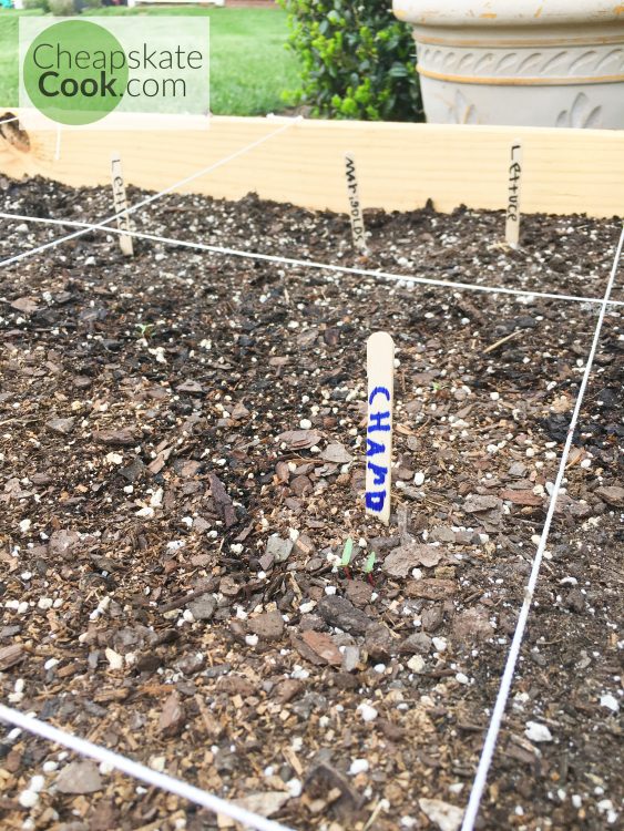
[[[385,331],[366,345],[368,419],[366,428],[366,511],[385,525],[390,522],[395,343]]]

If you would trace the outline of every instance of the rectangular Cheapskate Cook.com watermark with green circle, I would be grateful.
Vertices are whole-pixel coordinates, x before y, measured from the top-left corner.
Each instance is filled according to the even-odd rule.
[[[20,18],[27,126],[196,129],[209,115],[209,20]]]

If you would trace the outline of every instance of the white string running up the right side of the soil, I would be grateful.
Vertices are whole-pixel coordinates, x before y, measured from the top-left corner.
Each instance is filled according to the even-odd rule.
[[[594,358],[596,355],[596,349],[600,341],[600,336],[602,331],[602,326],[604,322],[604,317],[606,315],[606,309],[608,306],[608,298],[611,296],[611,291],[613,289],[613,285],[615,283],[615,275],[617,274],[617,267],[620,265],[620,259],[622,257],[622,246],[624,245],[624,227],[622,228],[622,234],[620,235],[620,243],[617,244],[617,249],[615,252],[615,258],[613,260],[613,268],[611,269],[611,275],[608,277],[608,283],[606,286],[606,290],[604,293],[604,297],[602,299],[601,309],[599,314],[599,319],[596,322],[596,328],[594,331],[594,338],[592,341],[592,348],[590,350],[590,355],[587,357],[587,361],[585,363],[585,370],[583,372],[583,379],[581,381],[581,386],[579,388],[579,394],[576,396],[576,403],[574,406],[574,411],[572,413],[572,419],[570,421],[570,427],[567,428],[567,437],[565,439],[565,444],[563,448],[563,452],[561,454],[561,462],[559,464],[559,471],[556,474],[556,479],[553,485],[553,490],[551,493],[551,499],[549,503],[549,510],[546,513],[546,519],[544,522],[544,527],[542,529],[542,534],[540,536],[540,543],[538,545],[538,551],[535,552],[535,557],[533,560],[533,565],[531,567],[531,575],[529,577],[529,583],[526,584],[526,588],[524,589],[524,601],[522,603],[522,608],[520,609],[520,614],[518,616],[518,623],[515,625],[515,632],[513,634],[513,639],[511,642],[511,646],[509,649],[504,671],[501,678],[501,684],[499,687],[499,693],[497,695],[497,700],[494,704],[494,709],[492,711],[492,718],[490,720],[490,726],[488,728],[488,732],[485,735],[485,741],[483,742],[483,749],[481,751],[481,758],[479,760],[479,766],[477,768],[477,774],[474,777],[474,781],[472,783],[472,790],[470,792],[470,799],[468,801],[468,807],[466,809],[466,813],[463,817],[463,823],[461,827],[461,831],[473,831],[474,829],[474,822],[477,821],[477,815],[479,813],[479,808],[481,806],[481,799],[483,797],[483,791],[485,788],[485,782],[488,780],[488,772],[490,770],[490,765],[492,762],[492,756],[494,753],[494,748],[497,746],[497,740],[499,737],[499,732],[501,729],[501,722],[504,715],[504,710],[507,707],[507,701],[509,698],[509,694],[511,691],[511,685],[513,681],[513,676],[515,671],[515,665],[518,663],[518,656],[520,654],[520,647],[522,645],[522,639],[524,637],[524,630],[526,628],[526,620],[529,618],[529,613],[531,611],[531,606],[533,603],[533,595],[535,593],[535,585],[538,583],[538,577],[540,576],[540,568],[542,565],[542,560],[544,556],[544,551],[546,548],[546,542],[549,538],[549,533],[551,529],[552,519],[554,516],[554,510],[556,507],[556,500],[559,496],[559,493],[561,491],[561,485],[563,482],[563,478],[565,475],[565,468],[567,465],[567,458],[570,455],[570,450],[572,448],[572,441],[574,438],[574,431],[576,429],[576,422],[579,420],[579,413],[581,412],[581,406],[583,403],[583,399],[585,397],[585,390],[587,389],[587,383],[590,381],[590,375],[592,372],[592,365],[594,362]]]

